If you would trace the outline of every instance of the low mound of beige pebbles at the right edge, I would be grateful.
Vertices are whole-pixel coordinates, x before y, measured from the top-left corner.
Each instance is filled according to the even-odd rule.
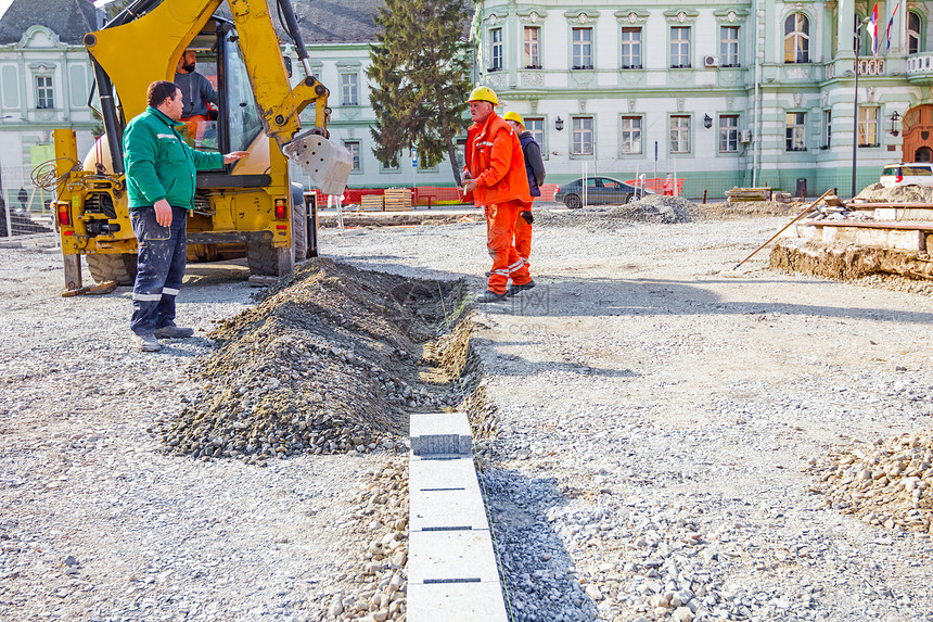
[[[933,533],[933,431],[879,441],[813,464],[826,505],[887,529]]]

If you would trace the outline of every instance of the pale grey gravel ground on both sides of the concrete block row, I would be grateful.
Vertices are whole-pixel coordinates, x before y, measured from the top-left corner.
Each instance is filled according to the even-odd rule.
[[[933,428],[933,297],[766,271],[766,251],[729,270],[785,221],[545,219],[538,287],[475,316],[498,423],[478,459],[515,620],[933,620],[929,534],[843,513],[808,472]],[[482,223],[329,230],[321,247],[482,291],[484,238]],[[199,337],[143,355],[126,288],[61,299],[55,255],[0,249],[4,619],[398,602],[396,454],[163,450],[155,430],[202,389],[205,335],[252,304],[242,266],[190,272],[179,319]]]

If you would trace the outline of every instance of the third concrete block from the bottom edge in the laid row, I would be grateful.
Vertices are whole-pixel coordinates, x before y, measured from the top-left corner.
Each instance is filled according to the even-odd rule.
[[[478,486],[413,491],[409,483],[409,532],[445,528],[489,529]]]

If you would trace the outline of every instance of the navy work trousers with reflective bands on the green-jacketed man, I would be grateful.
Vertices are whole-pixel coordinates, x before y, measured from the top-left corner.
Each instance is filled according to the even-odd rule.
[[[129,327],[137,334],[151,334],[157,328],[175,325],[175,296],[188,258],[187,216],[188,211],[172,206],[171,225],[163,227],[155,220],[155,207],[130,212],[139,256]]]

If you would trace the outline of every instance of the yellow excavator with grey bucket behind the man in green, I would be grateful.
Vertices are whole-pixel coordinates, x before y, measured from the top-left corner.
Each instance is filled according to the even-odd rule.
[[[289,274],[316,254],[316,223],[289,161],[325,194],[341,194],[353,161],[328,132],[329,91],[314,76],[291,0],[136,0],[102,29],[85,36],[105,134],[82,161],[75,134],[55,130],[53,202],[67,290],[81,288],[80,257],[95,281],[131,284],[137,240],[128,213],[123,130],[145,110],[154,80],[172,80],[186,50],[214,85],[216,111],[188,140],[196,149],[248,151],[217,170],[197,174],[188,219],[189,261],[246,256],[252,275]],[[272,11],[292,39],[304,77],[291,86]],[[299,115],[314,104],[314,126]],[[252,278],[252,277],[251,277]]]

